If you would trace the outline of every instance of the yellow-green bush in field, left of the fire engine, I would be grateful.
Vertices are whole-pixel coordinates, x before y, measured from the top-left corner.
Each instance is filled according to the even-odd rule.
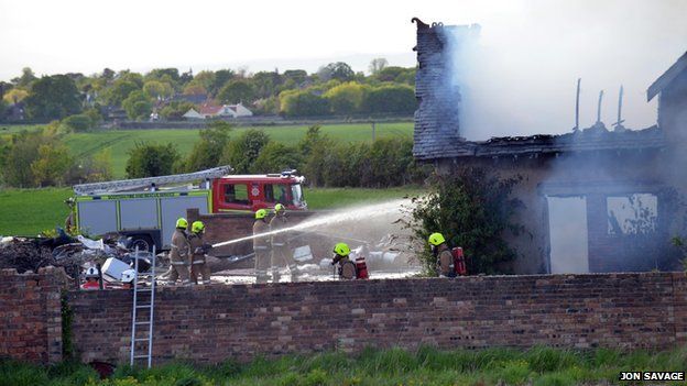
[[[65,145],[43,144],[39,147],[39,157],[31,163],[34,186],[61,186],[72,167],[73,159]]]

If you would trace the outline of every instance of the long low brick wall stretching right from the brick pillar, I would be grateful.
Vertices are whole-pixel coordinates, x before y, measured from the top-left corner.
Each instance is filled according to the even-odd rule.
[[[131,293],[72,291],[81,360],[128,361]],[[484,276],[161,288],[154,361],[215,363],[366,345],[670,348],[681,273]]]

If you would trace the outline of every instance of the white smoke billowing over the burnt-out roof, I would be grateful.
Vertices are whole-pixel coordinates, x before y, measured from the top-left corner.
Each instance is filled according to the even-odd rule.
[[[578,78],[580,128],[596,122],[600,90],[611,128],[621,85],[624,125],[655,124],[646,89],[687,49],[685,14],[687,1],[520,1],[461,20],[481,25],[477,41],[452,45],[447,81],[460,88],[461,136],[569,132]]]

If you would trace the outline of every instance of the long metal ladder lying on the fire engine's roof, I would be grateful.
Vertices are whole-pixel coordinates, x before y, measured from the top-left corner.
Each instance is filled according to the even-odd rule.
[[[200,170],[195,173],[175,174],[171,176],[149,177],[149,178],[134,178],[134,179],[121,179],[117,181],[108,183],[92,183],[81,184],[74,186],[74,192],[77,195],[95,195],[103,192],[116,192],[120,190],[141,189],[146,187],[159,187],[167,184],[181,184],[195,180],[208,180],[212,178],[219,178],[231,173],[230,166],[219,166],[207,170]]]

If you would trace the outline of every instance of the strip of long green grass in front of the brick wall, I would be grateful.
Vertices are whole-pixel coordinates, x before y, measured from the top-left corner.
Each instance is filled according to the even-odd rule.
[[[609,385],[621,371],[685,371],[687,348],[670,352],[587,352],[534,348],[527,351],[416,352],[401,349],[366,350],[352,356],[341,352],[279,360],[254,360],[216,366],[167,364],[152,370],[122,366],[105,381],[80,364],[39,367],[0,361],[0,386],[29,385]],[[683,383],[662,383],[678,385]]]

